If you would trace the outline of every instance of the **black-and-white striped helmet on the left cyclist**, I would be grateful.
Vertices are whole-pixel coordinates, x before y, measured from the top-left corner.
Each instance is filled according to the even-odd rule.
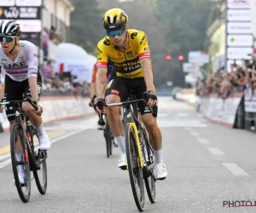
[[[20,36],[20,24],[15,22],[15,20],[3,20],[0,23],[0,35],[1,36]]]

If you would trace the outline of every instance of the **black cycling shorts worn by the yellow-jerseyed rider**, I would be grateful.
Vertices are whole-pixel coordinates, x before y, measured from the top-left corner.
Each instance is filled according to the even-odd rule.
[[[126,101],[129,97],[129,89],[134,89],[137,99],[143,98],[143,93],[147,91],[144,78],[113,78],[107,86],[105,97],[108,95],[119,95],[121,101]],[[151,113],[148,105],[145,102],[137,103],[141,114]]]

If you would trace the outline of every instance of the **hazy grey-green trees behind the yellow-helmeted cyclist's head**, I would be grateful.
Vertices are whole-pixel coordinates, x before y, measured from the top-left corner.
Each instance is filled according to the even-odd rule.
[[[148,35],[156,86],[166,84],[166,81],[184,85],[182,63],[187,61],[189,51],[205,49],[207,19],[212,5],[216,4],[212,0],[136,0],[123,3],[118,0],[73,0],[73,3],[72,42],[93,55],[96,44],[106,36],[102,27],[103,14],[108,9],[124,9],[129,16],[130,28]],[[166,60],[166,55],[172,55],[172,60]],[[174,60],[177,55],[183,55],[184,60]]]

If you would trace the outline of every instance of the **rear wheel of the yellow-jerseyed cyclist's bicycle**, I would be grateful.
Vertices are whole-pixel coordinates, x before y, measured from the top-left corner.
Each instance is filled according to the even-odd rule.
[[[145,146],[146,146],[147,155],[148,155],[147,158],[149,160],[150,158],[153,158],[154,153],[153,153],[151,145],[148,141],[148,134],[147,134],[147,130],[144,127],[144,125],[142,125],[142,137],[143,137],[143,140],[145,141]],[[146,156],[145,153],[143,153],[143,155]],[[146,159],[145,159],[145,161],[146,161]],[[147,166],[149,166],[150,164],[153,164],[152,159],[149,160],[149,162],[147,162]],[[151,204],[154,204],[155,203],[155,180],[154,180],[154,177],[152,176],[151,172],[149,172],[148,177],[144,177],[144,181],[145,181],[145,186],[146,186],[147,193],[148,193],[148,199],[150,200]]]

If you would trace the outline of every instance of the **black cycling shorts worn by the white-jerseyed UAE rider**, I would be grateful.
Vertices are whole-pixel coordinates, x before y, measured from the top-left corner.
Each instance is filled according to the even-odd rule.
[[[40,98],[42,89],[42,78],[38,72],[38,97]],[[22,82],[14,81],[5,75],[4,101],[21,101],[26,97],[31,97],[28,79]],[[15,120],[15,110],[12,105],[5,105],[6,116],[9,121]]]

